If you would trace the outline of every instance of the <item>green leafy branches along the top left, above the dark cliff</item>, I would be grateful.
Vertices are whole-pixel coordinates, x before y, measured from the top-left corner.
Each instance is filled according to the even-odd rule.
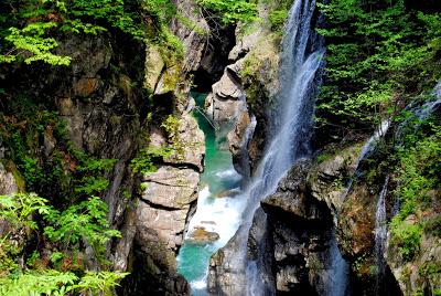
[[[118,30],[168,47],[172,56],[183,54],[182,43],[169,30],[176,14],[171,0],[9,0],[0,3],[0,38],[10,43],[0,46],[0,63],[68,65],[69,56],[53,53],[58,46],[54,36],[66,32],[97,35]]]

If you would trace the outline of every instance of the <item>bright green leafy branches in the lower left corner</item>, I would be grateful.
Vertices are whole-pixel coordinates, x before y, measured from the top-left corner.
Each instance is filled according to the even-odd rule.
[[[107,205],[98,198],[72,205],[60,212],[47,205],[47,200],[35,194],[17,193],[0,195],[0,220],[10,225],[10,231],[0,236],[0,295],[75,295],[92,293],[93,295],[111,295],[115,287],[127,273],[112,272],[60,272],[39,267],[37,271],[20,271],[15,263],[24,258],[22,250],[14,243],[14,232],[21,228],[37,231],[35,214],[43,216],[43,223],[51,223],[44,229],[45,234],[53,243],[64,243],[68,247],[78,250],[80,240],[90,244],[99,260],[104,256],[106,242],[119,232],[110,230],[107,223]],[[36,265],[40,252],[34,251],[28,257],[28,266]],[[64,253],[52,252],[52,263],[65,257]]]

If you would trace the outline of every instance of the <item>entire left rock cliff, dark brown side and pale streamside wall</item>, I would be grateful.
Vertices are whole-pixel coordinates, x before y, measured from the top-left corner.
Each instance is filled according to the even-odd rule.
[[[191,3],[184,1],[181,6]],[[201,17],[193,18],[204,25]],[[185,113],[185,106],[189,75],[201,64],[204,36],[182,24],[174,27],[187,46],[182,65],[166,64],[154,46],[146,47],[122,33],[72,34],[62,39],[57,49],[58,54],[72,56],[69,66],[21,65],[7,73],[11,83],[2,85],[12,98],[11,103],[6,102],[10,104],[3,110],[6,116],[22,115],[17,112],[13,97],[22,97],[25,89],[31,106],[53,112],[54,120],[65,123],[65,135],[60,135],[62,131],[55,130],[52,121],[43,124],[43,130],[36,131],[33,150],[29,151],[42,166],[51,166],[62,155],[62,175],[66,181],[57,180],[61,188],[67,190],[74,186],[69,178],[78,163],[71,151],[96,159],[115,159],[112,169],[105,176],[108,187],[100,197],[109,207],[111,226],[121,231],[121,237],[108,245],[107,256],[115,269],[132,274],[127,279],[133,283],[132,287],[122,288],[121,293],[189,293],[187,284],[176,274],[175,255],[203,170],[204,136],[196,121]],[[170,88],[170,78],[174,76],[182,83],[176,81],[180,87]],[[24,85],[28,86],[23,88]],[[161,102],[155,103],[158,101]],[[23,105],[18,108],[26,106],[22,102],[19,104]],[[148,116],[152,113],[162,119],[173,112],[179,118],[175,135],[154,126]],[[28,124],[35,118],[21,120]],[[17,151],[11,151],[7,144],[1,150],[1,194],[24,190],[11,159]],[[157,172],[146,176],[132,172],[130,163],[141,149],[178,144],[184,150],[179,157],[164,159]],[[140,189],[141,183],[146,189]],[[46,197],[49,192],[62,192],[56,184],[28,186]],[[138,274],[138,271],[141,272]],[[149,289],[144,288],[146,281],[151,283]]]

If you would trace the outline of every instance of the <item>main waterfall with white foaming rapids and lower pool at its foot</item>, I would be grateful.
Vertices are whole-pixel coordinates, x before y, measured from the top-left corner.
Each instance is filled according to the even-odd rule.
[[[240,281],[245,282],[243,284],[247,286],[248,295],[273,294],[273,287],[261,287],[263,281],[259,263],[247,262],[247,240],[260,200],[276,191],[279,180],[295,160],[310,155],[318,72],[324,55],[323,41],[312,28],[314,11],[315,0],[297,0],[290,10],[282,43],[281,92],[277,112],[271,117],[269,145],[255,176],[234,198],[214,199],[213,183],[208,183],[209,188],[200,193],[197,211],[190,222],[189,233],[205,221],[208,223],[204,228],[209,225],[209,231],[218,233],[219,240],[203,245],[186,243],[181,249],[179,271],[191,283],[194,295],[206,293],[207,254],[225,245],[236,230],[233,239],[236,249],[229,253],[232,257],[226,258],[229,266],[241,271],[234,279],[237,285]],[[196,263],[198,266],[195,266]],[[245,273],[245,278],[240,279]]]

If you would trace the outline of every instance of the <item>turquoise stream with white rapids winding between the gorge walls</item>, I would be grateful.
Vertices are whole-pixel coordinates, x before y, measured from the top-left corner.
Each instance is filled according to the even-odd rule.
[[[202,110],[206,94],[192,95]],[[178,256],[178,272],[190,283],[192,295],[203,296],[207,295],[206,276],[209,257],[234,235],[240,219],[237,201],[234,194],[228,192],[238,190],[240,177],[233,168],[232,155],[225,145],[225,139],[216,138],[216,130],[200,112],[194,110],[193,115],[205,134],[206,151],[197,210],[190,222],[189,232],[194,226],[203,226],[207,231],[218,233],[220,237],[216,242],[206,244],[186,241]],[[219,193],[223,198],[218,198]]]

